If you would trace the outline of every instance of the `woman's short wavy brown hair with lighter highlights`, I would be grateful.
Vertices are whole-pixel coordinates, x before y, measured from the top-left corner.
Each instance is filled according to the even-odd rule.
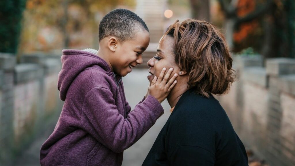
[[[232,58],[224,35],[215,26],[196,19],[176,20],[165,35],[174,38],[175,62],[189,74],[189,87],[206,97],[229,91],[234,82]]]

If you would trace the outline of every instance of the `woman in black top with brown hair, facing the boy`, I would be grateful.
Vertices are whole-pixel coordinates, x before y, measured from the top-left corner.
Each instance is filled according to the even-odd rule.
[[[173,67],[178,83],[167,97],[171,115],[143,165],[248,165],[244,145],[212,96],[226,93],[234,82],[229,48],[216,27],[176,21],[148,66],[150,82],[162,77],[163,67]]]

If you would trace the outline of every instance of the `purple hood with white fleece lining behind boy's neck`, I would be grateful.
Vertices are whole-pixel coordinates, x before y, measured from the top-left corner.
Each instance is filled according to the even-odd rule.
[[[61,56],[62,69],[58,74],[58,90],[61,100],[65,101],[71,83],[86,68],[98,65],[104,69],[106,74],[109,75],[112,72],[106,61],[97,56],[96,53],[96,50],[89,48],[85,50],[63,50]]]

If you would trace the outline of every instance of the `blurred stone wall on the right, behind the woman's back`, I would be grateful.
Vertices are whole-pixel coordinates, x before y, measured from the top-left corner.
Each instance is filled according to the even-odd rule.
[[[234,57],[236,81],[216,96],[244,144],[271,166],[295,165],[295,59]]]

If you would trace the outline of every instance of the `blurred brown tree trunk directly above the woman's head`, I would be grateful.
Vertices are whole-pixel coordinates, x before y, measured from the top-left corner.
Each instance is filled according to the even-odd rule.
[[[190,0],[190,4],[192,18],[210,22],[210,0]]]

